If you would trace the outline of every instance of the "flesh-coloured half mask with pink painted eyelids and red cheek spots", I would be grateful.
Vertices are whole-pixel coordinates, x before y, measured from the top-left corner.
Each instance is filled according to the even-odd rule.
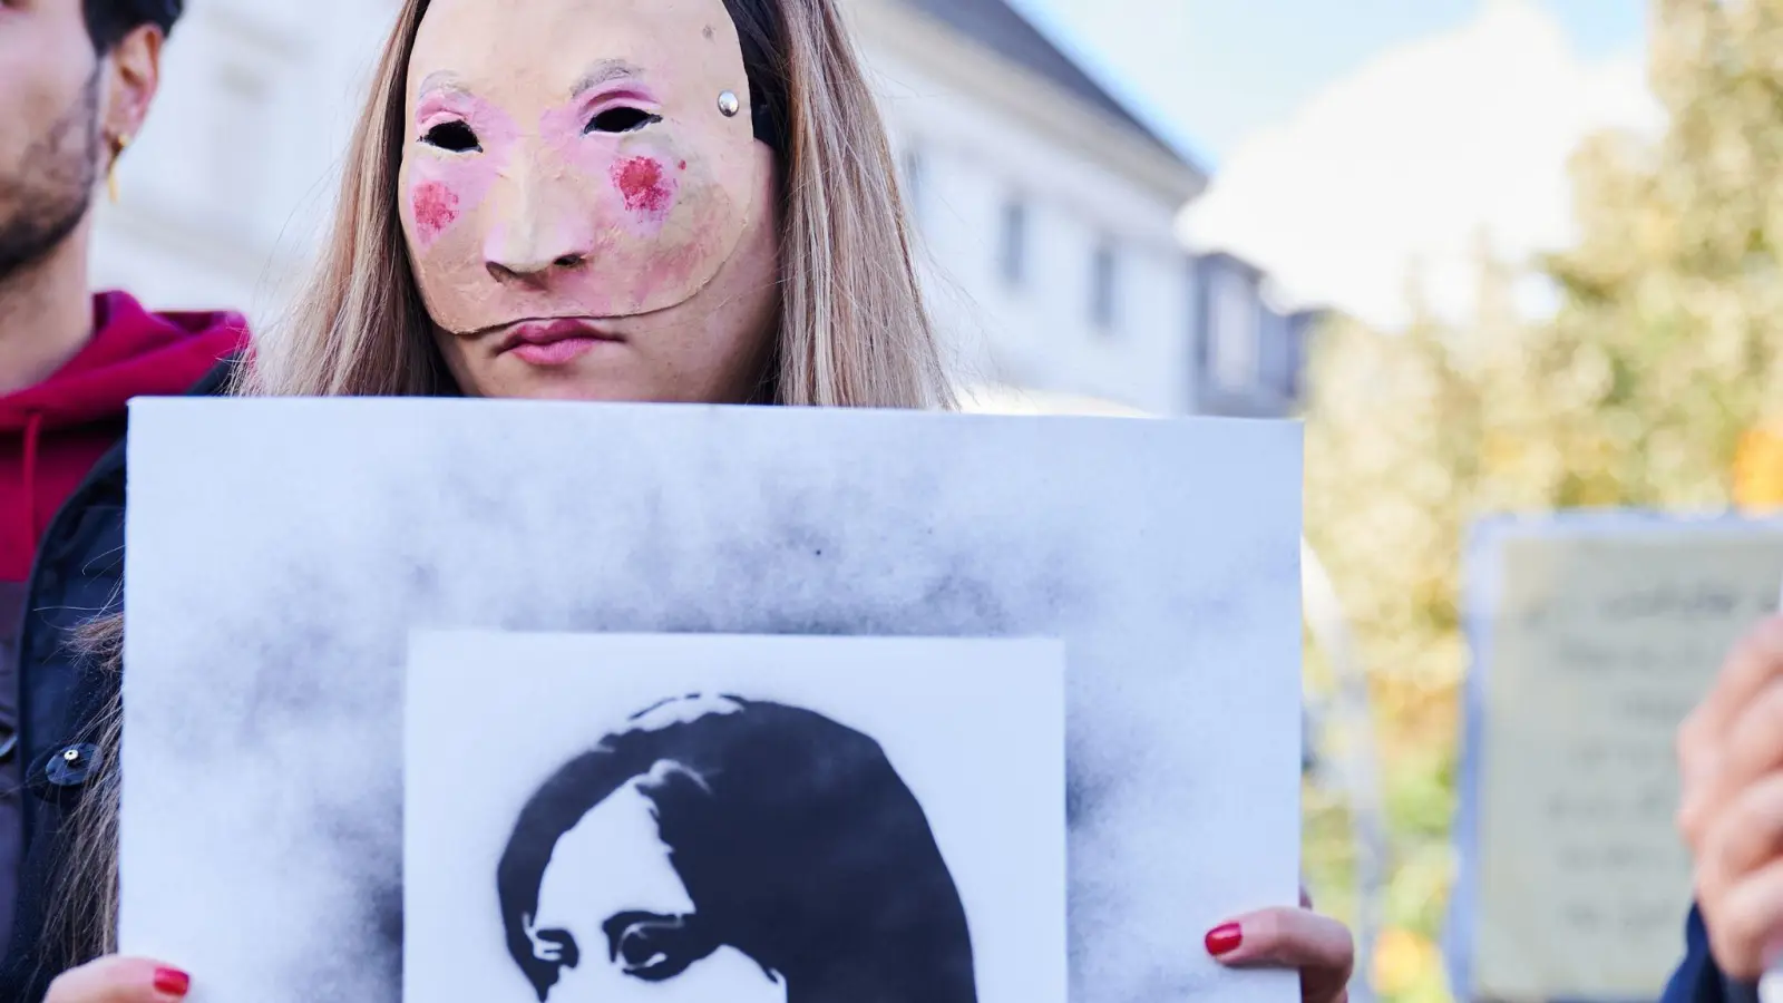
[[[399,200],[444,332],[688,303],[772,212],[722,0],[433,0]]]

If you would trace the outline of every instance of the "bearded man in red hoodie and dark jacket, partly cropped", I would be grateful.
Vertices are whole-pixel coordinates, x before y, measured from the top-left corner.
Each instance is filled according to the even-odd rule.
[[[87,293],[89,209],[182,4],[0,0],[0,946],[43,919],[14,917],[27,832],[53,825],[27,792],[30,728],[75,698],[20,675],[71,657],[68,626],[119,587],[125,402],[185,393],[246,336]]]

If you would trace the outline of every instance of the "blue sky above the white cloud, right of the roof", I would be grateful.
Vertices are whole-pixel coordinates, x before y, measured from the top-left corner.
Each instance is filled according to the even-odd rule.
[[[1218,166],[1253,130],[1491,0],[1013,0],[1179,146]],[[1541,0],[1578,57],[1635,50],[1644,0]]]

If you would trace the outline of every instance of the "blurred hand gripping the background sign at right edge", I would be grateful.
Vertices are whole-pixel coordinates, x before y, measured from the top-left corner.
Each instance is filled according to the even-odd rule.
[[[1678,825],[1715,962],[1760,976],[1783,937],[1783,618],[1753,628],[1678,732]]]

